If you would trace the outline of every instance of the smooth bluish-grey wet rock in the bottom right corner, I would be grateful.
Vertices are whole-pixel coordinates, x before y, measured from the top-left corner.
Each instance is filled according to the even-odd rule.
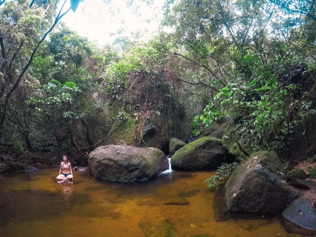
[[[316,235],[316,210],[308,198],[295,199],[282,212],[281,223],[290,233]]]

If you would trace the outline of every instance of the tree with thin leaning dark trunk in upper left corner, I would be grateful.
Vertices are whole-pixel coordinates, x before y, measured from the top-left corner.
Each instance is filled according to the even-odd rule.
[[[51,27],[49,27],[49,23],[53,19],[55,9],[52,7],[45,9],[46,4],[42,7],[40,1],[35,2],[33,0],[31,3],[28,1],[22,1],[21,3],[9,1],[2,9],[4,17],[0,29],[0,46],[3,81],[0,96],[3,109],[0,112],[0,141],[3,136],[3,123],[6,118],[9,100],[24,79],[37,49],[58,21],[70,9],[75,11],[79,3],[79,0],[71,1],[71,7],[63,12],[66,1],[64,1]],[[39,5],[36,3],[39,3]],[[43,3],[46,3],[46,1],[43,1]],[[56,1],[51,2],[56,6],[55,3]],[[27,9],[28,5],[33,6],[33,8]],[[43,33],[45,31],[46,33]],[[24,64],[25,61],[27,63]]]

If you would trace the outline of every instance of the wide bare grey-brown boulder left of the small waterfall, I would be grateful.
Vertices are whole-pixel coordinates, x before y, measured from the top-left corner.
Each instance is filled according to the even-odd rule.
[[[165,154],[157,148],[107,145],[88,155],[96,179],[134,182],[152,179],[168,168]]]

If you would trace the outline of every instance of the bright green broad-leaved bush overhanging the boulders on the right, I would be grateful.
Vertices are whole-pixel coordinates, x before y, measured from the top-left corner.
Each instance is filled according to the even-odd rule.
[[[252,73],[249,84],[230,83],[220,89],[214,98],[220,104],[218,109],[210,103],[196,123],[201,120],[212,124],[214,118],[235,121],[230,139],[245,141],[244,144],[250,139],[251,152],[262,146],[273,150],[289,148],[295,126],[315,113],[302,85],[293,84],[304,65],[297,59],[285,58],[263,65],[253,55],[246,55],[244,62],[246,71]],[[263,143],[269,138],[274,139]]]

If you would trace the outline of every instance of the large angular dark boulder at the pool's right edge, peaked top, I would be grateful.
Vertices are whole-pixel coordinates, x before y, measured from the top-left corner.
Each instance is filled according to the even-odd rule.
[[[274,151],[259,151],[228,179],[225,199],[228,210],[274,213],[283,211],[291,196],[276,170],[281,166]]]

